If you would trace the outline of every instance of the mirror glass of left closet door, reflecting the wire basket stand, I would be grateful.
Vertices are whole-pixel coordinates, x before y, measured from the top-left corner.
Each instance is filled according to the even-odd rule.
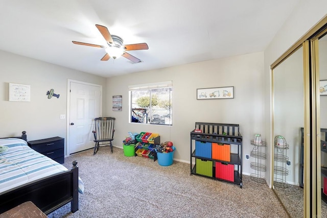
[[[273,70],[274,189],[292,217],[303,217],[301,128],[304,126],[303,49]]]

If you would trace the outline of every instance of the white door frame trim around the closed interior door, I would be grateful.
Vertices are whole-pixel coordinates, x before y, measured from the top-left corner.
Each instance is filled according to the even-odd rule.
[[[101,91],[101,98],[100,98],[100,116],[102,116],[102,100],[103,100],[103,94],[102,94],[102,85],[99,84],[94,84],[94,83],[87,83],[87,82],[82,82],[78,80],[72,80],[72,79],[67,79],[67,116],[66,116],[66,151],[65,151],[65,157],[69,156],[69,144],[70,144],[70,122],[69,120],[71,119],[71,82],[74,83],[79,83],[83,85],[90,85],[90,86],[96,86],[100,88]]]

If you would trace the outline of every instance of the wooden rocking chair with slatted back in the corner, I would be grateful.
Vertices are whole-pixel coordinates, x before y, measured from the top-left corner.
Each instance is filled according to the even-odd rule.
[[[112,140],[114,134],[114,117],[97,117],[95,120],[95,130],[92,131],[94,135],[93,140],[96,144],[94,146],[94,155],[100,147],[110,146],[112,153]],[[100,143],[107,142],[107,143]],[[99,144],[100,143],[100,144]]]

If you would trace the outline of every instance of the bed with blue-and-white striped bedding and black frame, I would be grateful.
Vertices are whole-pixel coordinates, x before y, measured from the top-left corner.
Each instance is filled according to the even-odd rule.
[[[27,201],[45,214],[69,202],[76,212],[78,193],[83,192],[77,161],[68,170],[31,149],[24,135],[0,139],[0,149],[7,150],[0,153],[0,214]]]

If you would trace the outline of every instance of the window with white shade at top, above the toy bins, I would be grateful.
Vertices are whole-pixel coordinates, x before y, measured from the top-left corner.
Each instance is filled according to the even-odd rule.
[[[172,125],[171,81],[129,86],[130,122]]]

